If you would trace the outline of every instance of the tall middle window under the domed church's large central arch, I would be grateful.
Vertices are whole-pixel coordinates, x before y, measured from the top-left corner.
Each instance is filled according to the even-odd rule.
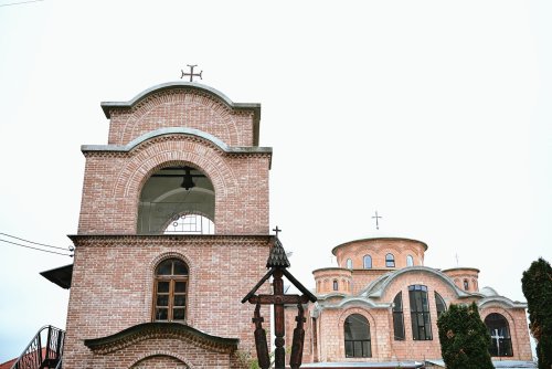
[[[417,284],[408,286],[408,297],[411,303],[412,338],[414,340],[433,339],[427,287]]]

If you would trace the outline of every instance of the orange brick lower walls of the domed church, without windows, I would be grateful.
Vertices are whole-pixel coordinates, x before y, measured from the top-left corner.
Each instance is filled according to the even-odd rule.
[[[355,284],[357,274],[352,273],[353,284]],[[481,299],[479,296],[459,297],[459,291],[452,281],[445,282],[446,276],[439,276],[436,273],[426,271],[410,271],[402,273],[392,280],[385,287],[381,297],[373,297],[378,304],[388,304],[389,308],[374,308],[369,303],[353,302],[343,307],[332,307],[340,304],[341,298],[332,297],[326,299],[327,306],[319,312],[317,318],[317,352],[306,351],[304,361],[310,362],[315,357],[319,361],[389,361],[389,360],[423,360],[425,358],[440,358],[440,345],[437,328],[437,309],[435,304],[435,292],[437,292],[446,305],[450,304],[470,304]],[[427,286],[427,297],[429,302],[429,316],[432,327],[431,340],[414,340],[412,333],[412,320],[408,301],[410,285]],[[392,302],[395,296],[402,292],[403,298],[403,321],[405,330],[404,340],[395,340],[393,333]],[[357,294],[357,292],[354,292]],[[309,306],[310,314],[314,314],[314,305]],[[531,360],[531,348],[529,344],[529,330],[527,326],[526,313],[522,308],[505,308],[492,304],[484,304],[480,314],[485,319],[490,313],[500,313],[507,317],[512,336],[512,347],[514,356],[509,359]],[[291,312],[288,313],[291,316]],[[346,358],[343,323],[351,314],[363,315],[370,323],[372,358],[358,359]],[[315,314],[316,315],[316,314]],[[312,337],[312,325],[307,325],[307,341],[315,341]],[[505,359],[505,358],[503,358]]]

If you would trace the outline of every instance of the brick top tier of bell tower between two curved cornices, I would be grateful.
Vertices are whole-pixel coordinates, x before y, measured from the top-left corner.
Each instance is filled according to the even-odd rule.
[[[144,134],[169,127],[209,133],[229,146],[253,145],[253,112],[235,110],[197,88],[157,92],[131,108],[110,108],[109,145],[127,145]]]

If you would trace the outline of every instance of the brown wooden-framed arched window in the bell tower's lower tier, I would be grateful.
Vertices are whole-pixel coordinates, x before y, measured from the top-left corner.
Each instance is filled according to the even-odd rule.
[[[179,259],[167,259],[156,268],[153,320],[185,321],[188,266]]]

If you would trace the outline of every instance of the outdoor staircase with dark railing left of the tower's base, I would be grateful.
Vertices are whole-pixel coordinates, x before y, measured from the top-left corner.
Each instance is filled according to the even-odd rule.
[[[11,369],[61,369],[64,338],[64,330],[52,326],[40,328]]]

